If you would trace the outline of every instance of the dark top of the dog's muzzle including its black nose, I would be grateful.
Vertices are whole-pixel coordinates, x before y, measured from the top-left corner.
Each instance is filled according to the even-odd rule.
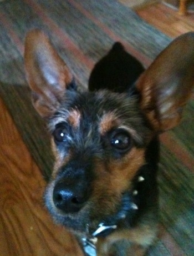
[[[54,185],[53,203],[64,214],[79,212],[90,196],[89,168],[78,165],[76,160],[72,160],[62,167]]]

